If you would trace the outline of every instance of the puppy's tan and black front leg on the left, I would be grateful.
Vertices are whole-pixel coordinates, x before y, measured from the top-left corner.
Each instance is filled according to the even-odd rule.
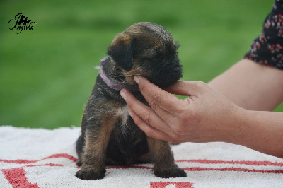
[[[105,177],[106,150],[116,121],[117,117],[105,115],[100,124],[93,124],[86,129],[81,170],[76,172],[76,177],[81,180],[98,180]]]

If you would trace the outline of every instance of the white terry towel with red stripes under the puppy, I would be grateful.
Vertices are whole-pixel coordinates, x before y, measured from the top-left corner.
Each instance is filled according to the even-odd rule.
[[[103,180],[75,177],[79,127],[0,127],[0,187],[283,187],[283,159],[229,143],[172,146],[187,177],[155,177],[152,165],[107,167]]]

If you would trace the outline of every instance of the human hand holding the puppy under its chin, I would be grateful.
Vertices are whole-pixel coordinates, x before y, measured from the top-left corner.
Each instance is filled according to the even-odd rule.
[[[141,76],[134,79],[151,108],[128,90],[121,90],[121,95],[135,124],[149,137],[180,143],[229,141],[241,134],[235,129],[243,124],[238,118],[243,109],[206,83],[178,81],[162,90]],[[189,98],[181,100],[172,94]]]

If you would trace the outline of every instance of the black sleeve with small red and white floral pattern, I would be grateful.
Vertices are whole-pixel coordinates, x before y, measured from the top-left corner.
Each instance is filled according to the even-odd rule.
[[[272,11],[263,23],[245,58],[259,64],[283,69],[283,0],[275,0]]]

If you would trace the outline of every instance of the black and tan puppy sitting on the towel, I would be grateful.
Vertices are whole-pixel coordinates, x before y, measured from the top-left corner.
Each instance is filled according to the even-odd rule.
[[[158,177],[185,177],[174,163],[167,141],[146,136],[128,114],[120,90],[127,88],[148,105],[134,82],[134,75],[148,78],[159,87],[170,86],[182,76],[178,45],[168,30],[155,23],[135,23],[118,34],[101,60],[91,96],[81,120],[76,152],[81,169],[76,177],[98,180],[105,165],[153,163]]]

